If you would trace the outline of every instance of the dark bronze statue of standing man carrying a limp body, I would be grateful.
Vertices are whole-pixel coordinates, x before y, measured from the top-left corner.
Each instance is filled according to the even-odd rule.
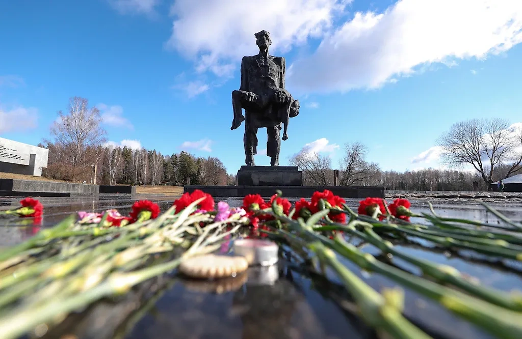
[[[232,92],[234,120],[230,129],[236,129],[245,122],[245,163],[247,166],[255,166],[257,129],[266,127],[266,155],[270,156],[272,166],[279,166],[281,125],[282,139],[287,140],[288,120],[299,114],[299,101],[293,100],[292,95],[284,89],[284,58],[268,54],[268,47],[272,43],[270,33],[263,30],[254,35],[259,54],[244,56],[241,60],[241,86],[239,91]]]

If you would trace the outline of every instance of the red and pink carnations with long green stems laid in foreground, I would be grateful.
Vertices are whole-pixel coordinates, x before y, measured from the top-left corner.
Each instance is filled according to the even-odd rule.
[[[41,216],[39,202],[24,199],[21,204],[3,213]],[[188,258],[226,251],[227,242],[241,237],[269,238],[290,248],[301,258],[303,270],[327,277],[324,269],[330,268],[352,295],[359,316],[389,336],[430,337],[404,317],[400,285],[491,335],[522,337],[519,294],[476,284],[455,268],[411,256],[390,241],[414,237],[447,249],[522,261],[522,225],[484,206],[502,224],[441,217],[431,205],[431,214],[416,214],[404,199],[388,204],[381,198],[366,198],[355,212],[328,190],[293,204],[280,191],[267,200],[247,195],[238,208],[216,203],[208,193],[196,190],[184,193],[162,214],[157,204],[147,200],[134,203],[127,216],[116,210],[82,211],[24,243],[0,250],[0,338],[18,337],[41,323],[60,323],[60,314],[125,294],[135,285],[175,270]],[[414,222],[420,219],[424,223]],[[407,261],[422,276],[377,260],[347,237]],[[378,292],[339,257],[386,276],[397,287]],[[319,265],[310,264],[314,261]]]

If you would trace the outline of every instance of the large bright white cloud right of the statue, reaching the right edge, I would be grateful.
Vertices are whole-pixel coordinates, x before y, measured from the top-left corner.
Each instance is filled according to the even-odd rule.
[[[304,91],[379,88],[432,63],[484,59],[522,42],[520,0],[400,0],[383,13],[355,13],[288,82]]]

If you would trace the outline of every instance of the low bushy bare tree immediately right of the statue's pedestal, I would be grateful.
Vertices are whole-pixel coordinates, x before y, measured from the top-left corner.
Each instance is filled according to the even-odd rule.
[[[292,166],[303,171],[304,184],[307,186],[328,186],[333,184],[331,158],[328,155],[301,151],[289,160]]]

